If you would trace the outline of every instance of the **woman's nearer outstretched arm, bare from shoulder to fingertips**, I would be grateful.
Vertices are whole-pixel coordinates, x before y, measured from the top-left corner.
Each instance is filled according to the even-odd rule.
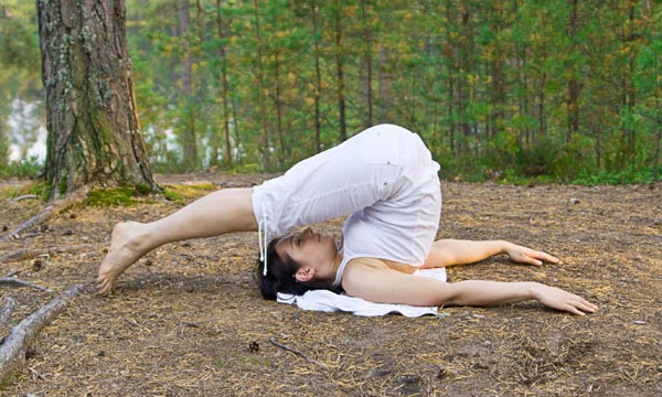
[[[538,282],[442,282],[361,262],[348,265],[342,286],[350,296],[382,303],[488,307],[535,299],[577,315],[598,310],[581,297]]]

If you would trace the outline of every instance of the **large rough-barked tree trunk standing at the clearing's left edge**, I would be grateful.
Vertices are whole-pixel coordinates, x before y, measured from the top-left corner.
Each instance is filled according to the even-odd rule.
[[[157,191],[127,52],[124,0],[38,0],[51,200],[79,186]]]

